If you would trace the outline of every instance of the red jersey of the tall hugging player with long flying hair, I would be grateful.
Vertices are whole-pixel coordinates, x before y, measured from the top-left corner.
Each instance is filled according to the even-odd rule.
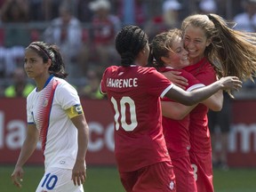
[[[195,76],[202,84],[209,85],[217,80],[215,70],[205,58],[184,69]],[[204,104],[198,104],[189,115],[191,151],[196,153],[208,153],[212,150],[207,113],[208,108]]]

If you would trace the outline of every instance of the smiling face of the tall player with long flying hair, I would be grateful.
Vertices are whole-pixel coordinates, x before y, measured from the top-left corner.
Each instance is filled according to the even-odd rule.
[[[191,64],[195,64],[204,58],[204,50],[209,44],[211,44],[211,40],[207,39],[202,28],[196,28],[192,25],[185,28],[184,46],[188,51]]]

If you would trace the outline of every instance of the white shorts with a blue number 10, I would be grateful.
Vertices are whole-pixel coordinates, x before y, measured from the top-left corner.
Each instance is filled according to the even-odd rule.
[[[72,170],[49,168],[44,172],[36,192],[84,192],[83,185],[75,186],[72,179]]]

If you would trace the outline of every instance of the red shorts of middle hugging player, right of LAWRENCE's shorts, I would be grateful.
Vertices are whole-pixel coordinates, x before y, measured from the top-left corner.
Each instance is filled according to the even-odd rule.
[[[195,192],[196,180],[190,163],[189,156],[172,159],[176,179],[176,189],[179,192]]]

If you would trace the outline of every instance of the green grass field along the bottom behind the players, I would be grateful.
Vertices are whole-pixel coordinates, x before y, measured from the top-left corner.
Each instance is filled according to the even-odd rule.
[[[12,185],[10,176],[13,166],[0,166],[0,192],[34,192],[44,172],[42,166],[24,167],[25,175],[21,189]],[[255,192],[255,169],[214,170],[215,192]],[[115,167],[88,167],[85,192],[124,192]]]

